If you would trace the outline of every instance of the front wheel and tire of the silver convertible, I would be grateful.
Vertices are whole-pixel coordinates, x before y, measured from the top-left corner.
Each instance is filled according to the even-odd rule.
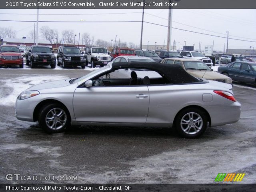
[[[48,104],[40,109],[38,122],[47,133],[59,133],[70,125],[70,117],[61,104]]]

